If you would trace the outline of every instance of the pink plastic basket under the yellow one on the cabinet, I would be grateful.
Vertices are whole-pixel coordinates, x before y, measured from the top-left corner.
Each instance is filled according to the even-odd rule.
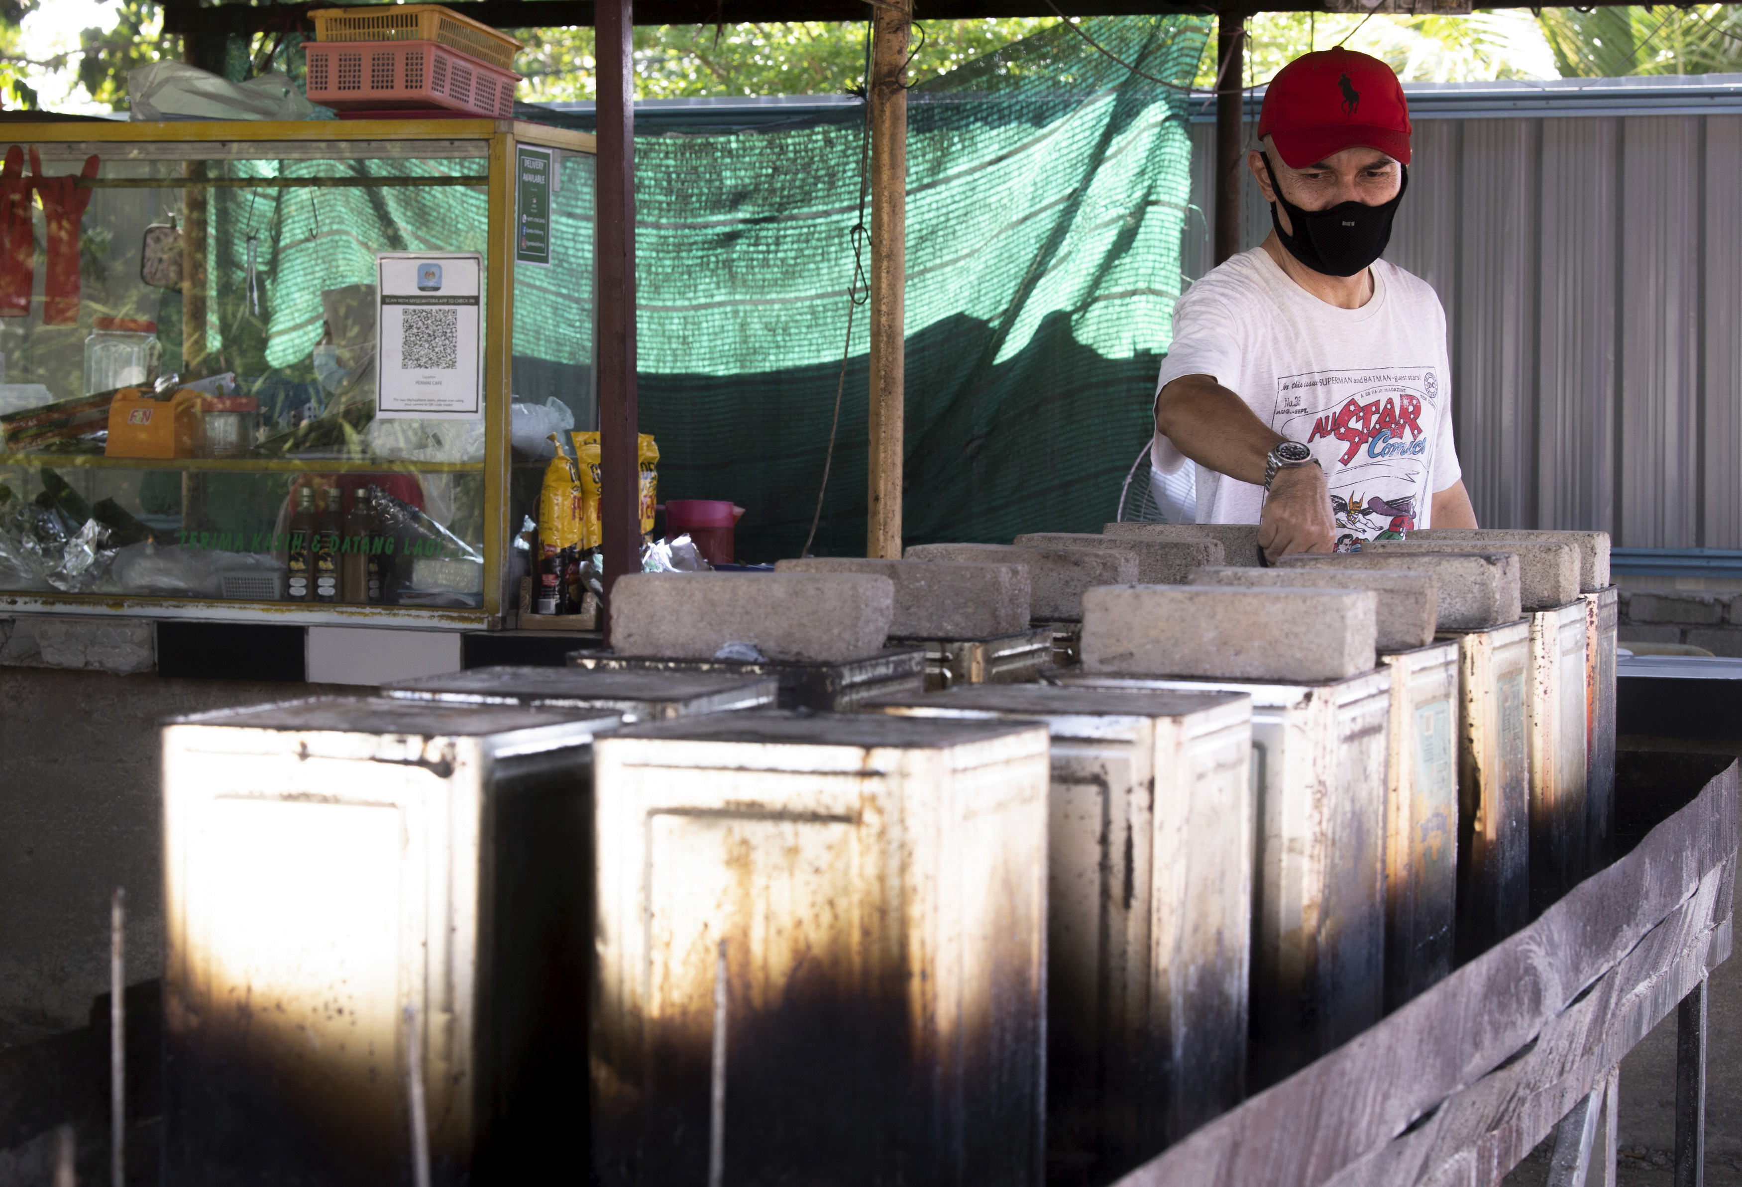
[[[340,112],[434,106],[514,119],[521,77],[437,42],[307,42],[308,101]]]

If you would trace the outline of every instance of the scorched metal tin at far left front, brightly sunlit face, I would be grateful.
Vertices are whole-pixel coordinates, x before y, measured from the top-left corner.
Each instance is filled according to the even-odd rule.
[[[413,1068],[434,1184],[573,1159],[618,723],[326,697],[164,729],[165,1182],[411,1182]]]

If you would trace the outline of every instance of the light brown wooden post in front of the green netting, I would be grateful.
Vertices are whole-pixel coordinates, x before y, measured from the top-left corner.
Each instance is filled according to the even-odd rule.
[[[880,0],[871,37],[871,492],[866,556],[901,556],[908,277],[908,33],[913,0]]]

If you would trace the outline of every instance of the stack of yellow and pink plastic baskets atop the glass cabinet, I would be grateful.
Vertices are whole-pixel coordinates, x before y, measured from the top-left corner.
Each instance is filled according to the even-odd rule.
[[[436,3],[317,9],[308,99],[338,112],[441,108],[512,119],[521,44]]]

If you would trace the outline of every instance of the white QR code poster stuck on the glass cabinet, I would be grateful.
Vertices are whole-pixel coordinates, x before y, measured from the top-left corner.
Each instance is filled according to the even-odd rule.
[[[483,263],[477,254],[375,258],[376,415],[477,420],[484,415]]]

